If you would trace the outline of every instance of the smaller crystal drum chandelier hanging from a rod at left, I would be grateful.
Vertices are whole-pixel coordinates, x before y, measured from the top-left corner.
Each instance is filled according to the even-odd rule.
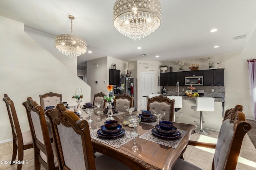
[[[55,47],[64,55],[75,58],[86,52],[87,44],[82,38],[73,35],[73,23],[74,16],[69,15],[71,20],[71,35],[62,34],[55,37]]]

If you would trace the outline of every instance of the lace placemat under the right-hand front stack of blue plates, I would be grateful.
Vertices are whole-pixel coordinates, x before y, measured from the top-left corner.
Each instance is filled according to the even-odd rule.
[[[180,137],[174,138],[174,139],[158,138],[158,137],[152,135],[151,130],[144,133],[139,138],[146,139],[148,141],[152,141],[152,142],[176,149],[178,147],[178,145],[180,144],[180,141],[182,140],[182,138],[188,132],[188,131],[184,131],[184,130],[180,130],[180,129],[177,129],[177,130],[180,131]]]

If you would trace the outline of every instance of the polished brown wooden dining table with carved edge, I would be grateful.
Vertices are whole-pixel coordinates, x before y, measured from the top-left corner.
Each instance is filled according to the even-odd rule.
[[[142,111],[134,111],[132,115],[139,115]],[[97,135],[98,129],[108,115],[103,109],[94,109],[89,124],[92,146],[94,151],[108,155],[134,170],[170,170],[178,158],[182,157],[191,135],[196,129],[195,125],[173,122],[173,126],[181,132],[175,139],[159,138],[152,135],[152,129],[158,124],[154,122],[140,122],[137,126],[138,136],[133,134],[134,128],[122,124],[123,115],[128,112],[113,114],[113,118],[122,125],[125,135],[114,139],[105,139]],[[129,114],[128,114],[129,115]],[[88,114],[83,111],[83,119],[89,120]],[[113,165],[114,166],[114,165]]]

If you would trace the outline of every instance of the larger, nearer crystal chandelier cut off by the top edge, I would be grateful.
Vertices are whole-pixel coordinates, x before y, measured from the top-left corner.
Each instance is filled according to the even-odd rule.
[[[156,31],[160,18],[159,0],[117,0],[114,4],[114,27],[134,40]]]

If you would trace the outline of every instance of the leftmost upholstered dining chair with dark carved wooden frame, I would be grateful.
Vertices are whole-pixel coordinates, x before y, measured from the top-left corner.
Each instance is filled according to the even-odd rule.
[[[23,150],[33,148],[33,141],[31,137],[30,131],[22,132],[20,129],[20,123],[18,120],[18,116],[16,113],[16,109],[14,107],[13,101],[10,99],[10,97],[7,94],[4,94],[3,98],[8,116],[10,119],[11,127],[12,127],[12,145],[13,145],[13,151],[12,151],[12,160],[11,165],[13,164],[14,160],[17,156],[18,151],[18,158],[17,160],[21,161],[23,160]],[[21,170],[22,164],[17,165],[17,170]]]

